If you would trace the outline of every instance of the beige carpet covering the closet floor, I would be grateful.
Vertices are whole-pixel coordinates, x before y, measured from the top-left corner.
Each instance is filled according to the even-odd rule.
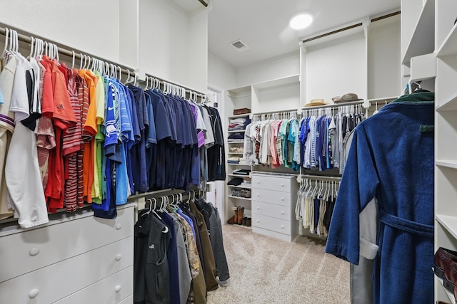
[[[351,303],[349,264],[324,252],[321,240],[288,243],[224,225],[229,287],[209,291],[209,304]]]

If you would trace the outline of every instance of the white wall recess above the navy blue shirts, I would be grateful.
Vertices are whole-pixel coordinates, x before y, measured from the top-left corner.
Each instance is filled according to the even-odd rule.
[[[206,12],[202,14],[204,16],[192,19],[168,1],[140,0],[141,70],[195,90],[206,91],[207,46],[204,41],[207,36],[207,19]]]

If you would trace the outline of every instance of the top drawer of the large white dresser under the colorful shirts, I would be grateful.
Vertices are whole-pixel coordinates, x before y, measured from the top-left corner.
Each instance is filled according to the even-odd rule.
[[[115,220],[89,213],[56,222],[0,238],[0,282],[133,236],[134,207]]]

